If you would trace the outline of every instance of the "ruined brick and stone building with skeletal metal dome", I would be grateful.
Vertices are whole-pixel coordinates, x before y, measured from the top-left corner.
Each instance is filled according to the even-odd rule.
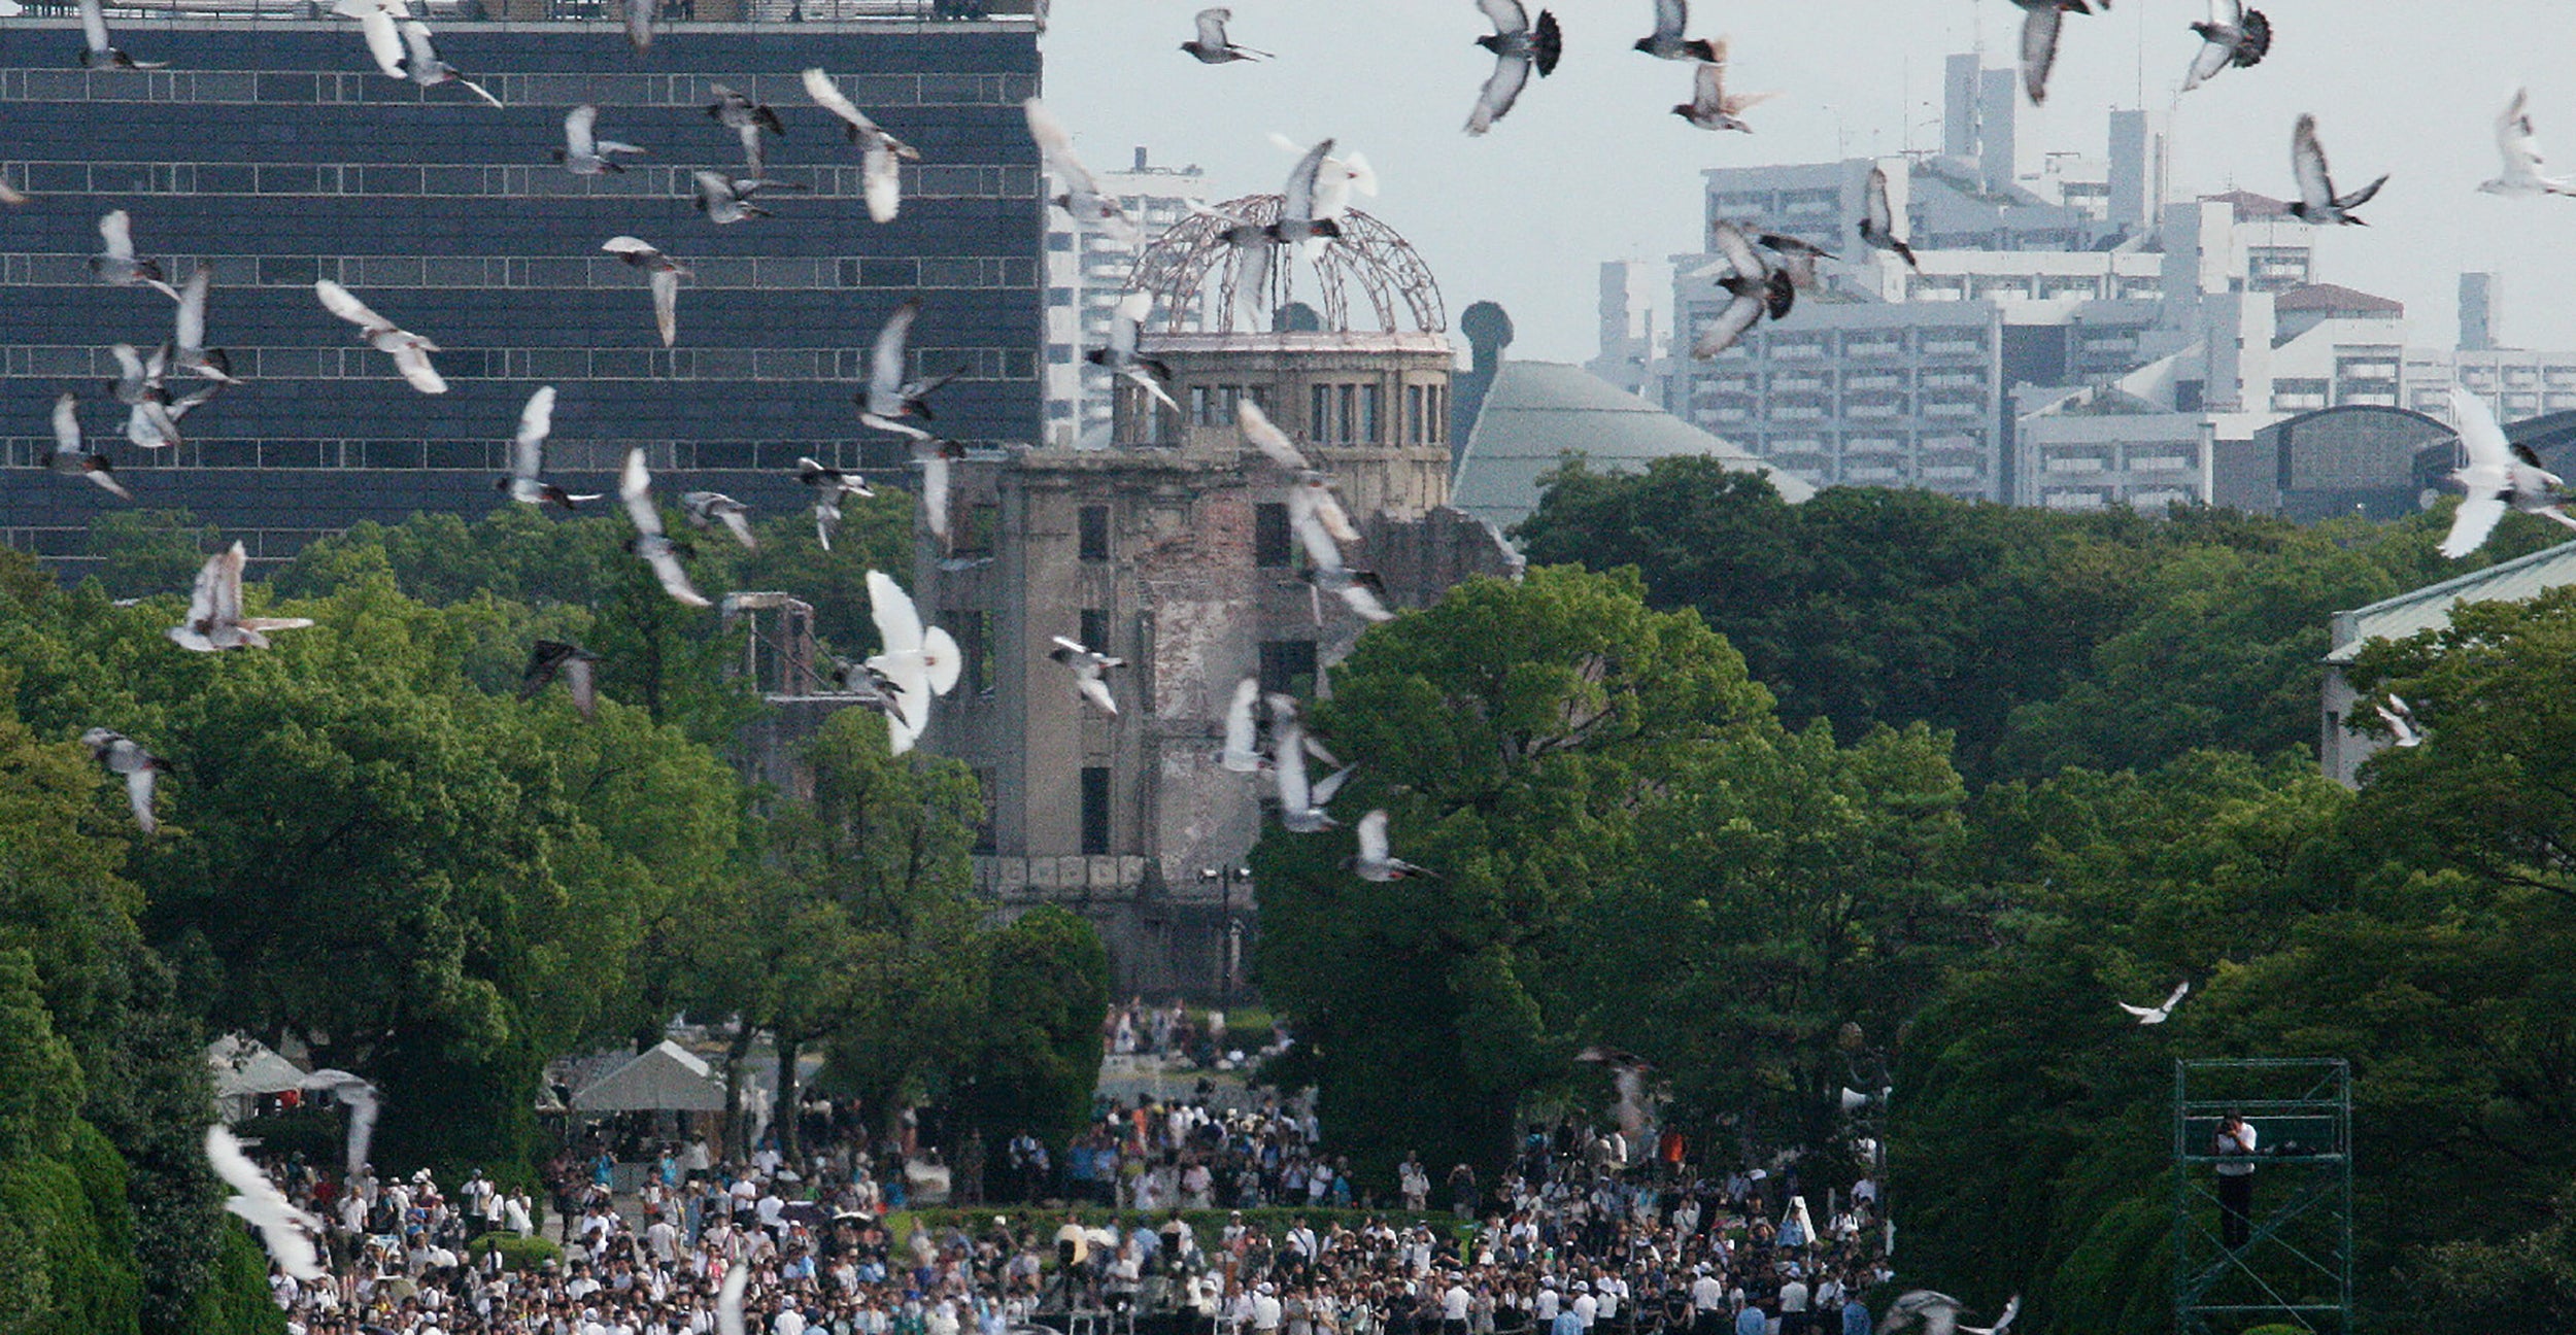
[[[1247,675],[1314,693],[1365,629],[1337,598],[1316,611],[1285,474],[1244,446],[1234,405],[1260,402],[1337,477],[1365,536],[1355,564],[1391,606],[1520,562],[1450,508],[1453,353],[1412,247],[1350,214],[1342,240],[1275,247],[1267,276],[1247,276],[1213,229],[1175,227],[1136,271],[1157,294],[1144,348],[1180,412],[1123,389],[1108,441],[961,466],[956,544],[925,533],[914,593],[966,657],[925,745],[984,781],[979,881],[1007,907],[1084,912],[1128,992],[1226,1000],[1247,982],[1242,866],[1265,791],[1216,763],[1229,696]],[[1355,304],[1376,330],[1352,327]],[[1236,330],[1239,309],[1270,317]],[[1059,634],[1128,660],[1118,716],[1046,657]]]

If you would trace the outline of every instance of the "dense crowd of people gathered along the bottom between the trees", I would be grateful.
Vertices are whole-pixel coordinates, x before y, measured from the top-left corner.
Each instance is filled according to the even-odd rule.
[[[1061,1173],[1033,1137],[994,1165],[1030,1196],[1087,1193],[902,1234],[881,1186],[902,1180],[902,1144],[804,1162],[675,1144],[631,1191],[605,1149],[567,1155],[551,1209],[482,1173],[343,1183],[289,1162],[278,1180],[325,1222],[330,1276],[270,1283],[296,1335],[708,1335],[734,1268],[744,1325],[768,1335],[1844,1335],[1888,1278],[1865,1180],[1819,1219],[1793,1173],[1623,1165],[1615,1134],[1558,1126],[1489,1188],[1406,1157],[1406,1209],[1363,1214],[1321,1209],[1355,1188],[1319,1144],[1296,1103],[1108,1106]],[[1182,1214],[1211,1209],[1231,1214]]]

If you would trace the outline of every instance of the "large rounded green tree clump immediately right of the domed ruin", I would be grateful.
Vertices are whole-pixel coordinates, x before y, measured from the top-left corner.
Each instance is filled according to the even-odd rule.
[[[1911,925],[1942,920],[1929,881],[1960,838],[1937,740],[1783,732],[1726,642],[1649,611],[1633,575],[1471,580],[1370,631],[1314,714],[1365,765],[1342,807],[1383,804],[1399,853],[1440,871],[1373,887],[1316,835],[1252,856],[1262,990],[1370,1170],[1492,1162],[1587,1041],[1695,1072],[1762,1031],[1754,1075],[1682,1093],[1710,1121],[1752,1106],[1785,1144],[1819,1116],[1832,1036],[1891,1013],[1868,997],[1937,936]],[[1710,1013],[1721,992],[1734,1010]]]

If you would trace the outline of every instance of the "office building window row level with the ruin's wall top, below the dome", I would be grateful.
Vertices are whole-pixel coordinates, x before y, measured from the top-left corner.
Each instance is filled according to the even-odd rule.
[[[98,423],[103,428],[106,423]],[[93,428],[95,430],[95,428]],[[106,430],[95,430],[106,441]],[[546,441],[551,472],[613,472],[626,451],[641,446],[657,472],[796,472],[799,459],[819,459],[837,469],[881,474],[909,487],[909,448],[899,441]],[[969,441],[969,448],[994,448],[999,441]],[[0,466],[41,469],[54,454],[52,436],[0,436]],[[500,474],[510,466],[507,441],[247,441],[191,436],[183,446],[160,451],[116,448],[118,472],[162,469],[456,469]],[[966,536],[961,533],[961,541]]]

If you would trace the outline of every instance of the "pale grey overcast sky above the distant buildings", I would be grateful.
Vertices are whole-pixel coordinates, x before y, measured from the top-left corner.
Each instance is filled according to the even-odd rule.
[[[1046,98],[1095,168],[1131,147],[1195,162],[1208,196],[1278,191],[1267,142],[1337,137],[1386,188],[1363,206],[1468,302],[1512,312],[1515,356],[1595,353],[1597,263],[1698,250],[1703,168],[1819,162],[1940,144],[1942,57],[1984,41],[2004,67],[2009,0],[1698,0],[1692,34],[1734,39],[1734,85],[1777,90],[1757,134],[1692,129],[1669,106],[1690,67],[1628,44],[1651,0],[1558,0],[1566,57],[1484,139],[1461,134],[1492,57],[1473,0],[1234,0],[1234,39],[1275,62],[1200,67],[1177,44],[1195,0],[1054,0]],[[2318,116],[2342,188],[2393,180],[2370,227],[2324,237],[2324,281],[2406,302],[2409,343],[2455,340],[2463,268],[2504,273],[2506,343],[2576,348],[2576,198],[2496,198],[2494,119],[2514,85],[2558,173],[2576,175],[2576,0],[2264,0],[2272,57],[2174,106],[2205,0],[2120,0],[2069,15],[2045,108],[2020,111],[2022,165],[2099,157],[2110,108],[2174,106],[2179,196],[2231,186],[2290,196],[2290,124]],[[2143,57],[2143,59],[2141,59]],[[2143,90],[2143,95],[2141,95]],[[2563,144],[2563,147],[2561,147]]]

